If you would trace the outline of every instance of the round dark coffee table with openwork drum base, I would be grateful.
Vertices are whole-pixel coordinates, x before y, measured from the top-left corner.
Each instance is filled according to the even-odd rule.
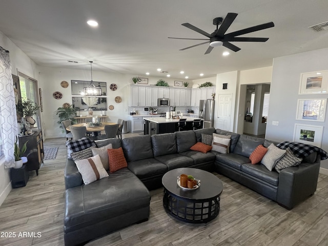
[[[195,190],[182,189],[177,184],[181,174],[200,179]],[[195,168],[178,168],[162,177],[164,187],[163,206],[167,213],[189,223],[207,223],[220,211],[221,180],[214,174]]]

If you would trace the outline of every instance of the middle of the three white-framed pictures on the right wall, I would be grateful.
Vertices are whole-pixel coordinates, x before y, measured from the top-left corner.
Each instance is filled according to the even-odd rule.
[[[296,119],[324,122],[327,99],[298,99]]]

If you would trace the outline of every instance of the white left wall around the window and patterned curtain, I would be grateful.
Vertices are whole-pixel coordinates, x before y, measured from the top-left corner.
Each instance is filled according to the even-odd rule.
[[[19,72],[25,73],[30,77],[38,79],[36,72],[36,64],[32,61],[22,50],[11,42],[11,40],[0,31],[0,46],[9,50],[12,74],[18,75]],[[6,199],[7,195],[11,191],[11,183],[9,176],[9,169],[5,169],[4,160],[0,160],[0,205]]]

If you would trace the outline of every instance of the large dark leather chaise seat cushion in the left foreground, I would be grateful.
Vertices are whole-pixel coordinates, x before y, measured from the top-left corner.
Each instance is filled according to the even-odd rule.
[[[147,207],[150,194],[145,185],[124,168],[88,186],[66,190],[65,199],[64,225],[65,232],[69,233]]]

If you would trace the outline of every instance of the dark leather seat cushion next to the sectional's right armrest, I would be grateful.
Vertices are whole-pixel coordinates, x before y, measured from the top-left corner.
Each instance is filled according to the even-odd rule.
[[[241,171],[257,177],[265,182],[271,183],[273,186],[278,186],[279,173],[270,172],[263,165],[252,165],[251,163],[241,166]]]

